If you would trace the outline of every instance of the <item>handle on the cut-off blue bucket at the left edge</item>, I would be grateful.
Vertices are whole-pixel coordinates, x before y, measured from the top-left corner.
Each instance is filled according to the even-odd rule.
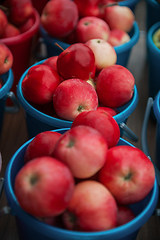
[[[15,94],[13,92],[9,92],[7,93],[7,98],[10,98],[13,106],[9,107],[9,106],[5,106],[5,111],[8,113],[17,113],[20,110],[20,104],[15,96]]]

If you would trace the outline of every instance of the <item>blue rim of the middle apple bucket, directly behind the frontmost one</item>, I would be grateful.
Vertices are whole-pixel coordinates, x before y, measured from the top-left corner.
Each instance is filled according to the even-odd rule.
[[[25,75],[27,74],[28,70],[35,65],[42,64],[44,61],[45,61],[45,59],[33,64],[23,73],[23,75],[21,76],[21,78],[18,82],[18,85],[17,85],[17,98],[27,113],[32,115],[34,118],[43,121],[45,124],[51,125],[51,123],[54,120],[55,123],[57,123],[56,126],[58,126],[58,127],[64,127],[64,126],[61,126],[61,124],[65,124],[65,127],[71,127],[72,121],[55,118],[55,117],[49,116],[43,112],[40,112],[39,110],[34,108],[30,103],[28,103],[28,101],[23,96],[21,86],[22,86],[22,81],[23,81]],[[129,106],[127,106],[124,110],[122,110],[117,115],[113,116],[113,118],[117,121],[117,123],[123,122],[125,119],[127,119],[130,116],[130,114],[136,108],[138,100],[139,100],[138,90],[137,90],[136,85],[134,85],[134,94],[133,94],[132,99],[130,100],[131,102],[130,102]]]

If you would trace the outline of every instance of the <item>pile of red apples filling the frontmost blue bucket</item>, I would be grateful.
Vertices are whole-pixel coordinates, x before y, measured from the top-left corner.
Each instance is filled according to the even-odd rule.
[[[73,231],[103,231],[131,221],[131,204],[143,200],[155,182],[154,166],[140,149],[109,148],[96,126],[87,124],[39,133],[22,161],[14,182],[22,209]]]

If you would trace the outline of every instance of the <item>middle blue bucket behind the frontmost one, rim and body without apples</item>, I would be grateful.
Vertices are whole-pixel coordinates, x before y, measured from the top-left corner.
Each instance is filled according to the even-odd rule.
[[[45,60],[42,60],[40,62],[35,63],[34,65],[42,64],[44,61]],[[26,123],[27,123],[29,138],[32,138],[38,133],[44,132],[47,130],[54,130],[59,128],[70,128],[72,125],[71,121],[55,118],[43,112],[40,112],[38,109],[34,108],[24,98],[23,92],[22,92],[22,81],[24,77],[27,75],[27,72],[28,72],[28,69],[23,73],[22,77],[19,80],[19,83],[17,86],[17,98],[19,103],[21,104],[21,106],[26,112],[25,116],[26,116]],[[138,99],[139,99],[138,91],[135,85],[132,99],[124,106],[118,108],[119,113],[116,116],[114,116],[114,119],[117,121],[118,124],[126,123],[128,117],[135,110],[138,103]]]

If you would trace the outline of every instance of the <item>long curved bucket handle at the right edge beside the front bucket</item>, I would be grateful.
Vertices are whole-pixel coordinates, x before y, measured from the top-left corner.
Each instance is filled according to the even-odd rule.
[[[149,97],[147,101],[145,116],[144,116],[143,125],[142,125],[141,145],[142,145],[142,151],[148,156],[148,158],[152,161],[154,165],[157,182],[158,182],[158,185],[160,186],[160,171],[158,170],[158,168],[156,167],[155,163],[151,158],[151,154],[150,154],[150,151],[148,148],[148,142],[147,142],[147,126],[148,126],[148,120],[149,120],[151,108],[153,106],[153,102],[154,102],[153,98]]]

